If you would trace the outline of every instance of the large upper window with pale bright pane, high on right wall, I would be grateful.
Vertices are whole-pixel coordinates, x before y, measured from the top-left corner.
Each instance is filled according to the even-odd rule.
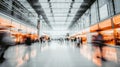
[[[100,20],[114,15],[112,0],[98,0]]]

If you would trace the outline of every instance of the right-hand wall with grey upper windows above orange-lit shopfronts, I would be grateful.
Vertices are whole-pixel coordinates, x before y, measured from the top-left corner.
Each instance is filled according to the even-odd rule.
[[[79,19],[80,30],[90,28],[91,37],[103,35],[107,45],[120,45],[120,0],[97,0]],[[115,8],[114,8],[115,7]],[[114,16],[115,15],[115,16]]]

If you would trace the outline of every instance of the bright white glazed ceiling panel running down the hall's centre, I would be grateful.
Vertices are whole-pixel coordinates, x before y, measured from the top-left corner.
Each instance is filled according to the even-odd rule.
[[[67,29],[83,0],[39,0],[53,29]]]

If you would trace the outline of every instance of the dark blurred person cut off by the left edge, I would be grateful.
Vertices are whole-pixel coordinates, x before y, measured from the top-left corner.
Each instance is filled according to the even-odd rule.
[[[5,58],[5,51],[12,45],[15,45],[10,32],[7,30],[0,30],[0,62],[2,63]]]

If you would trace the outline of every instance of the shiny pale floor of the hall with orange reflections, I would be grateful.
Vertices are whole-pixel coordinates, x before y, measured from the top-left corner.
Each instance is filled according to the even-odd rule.
[[[91,44],[81,45],[74,42],[52,41],[34,43],[32,46],[17,45],[10,47],[0,67],[120,67],[119,48],[104,47],[101,61],[99,48]]]

